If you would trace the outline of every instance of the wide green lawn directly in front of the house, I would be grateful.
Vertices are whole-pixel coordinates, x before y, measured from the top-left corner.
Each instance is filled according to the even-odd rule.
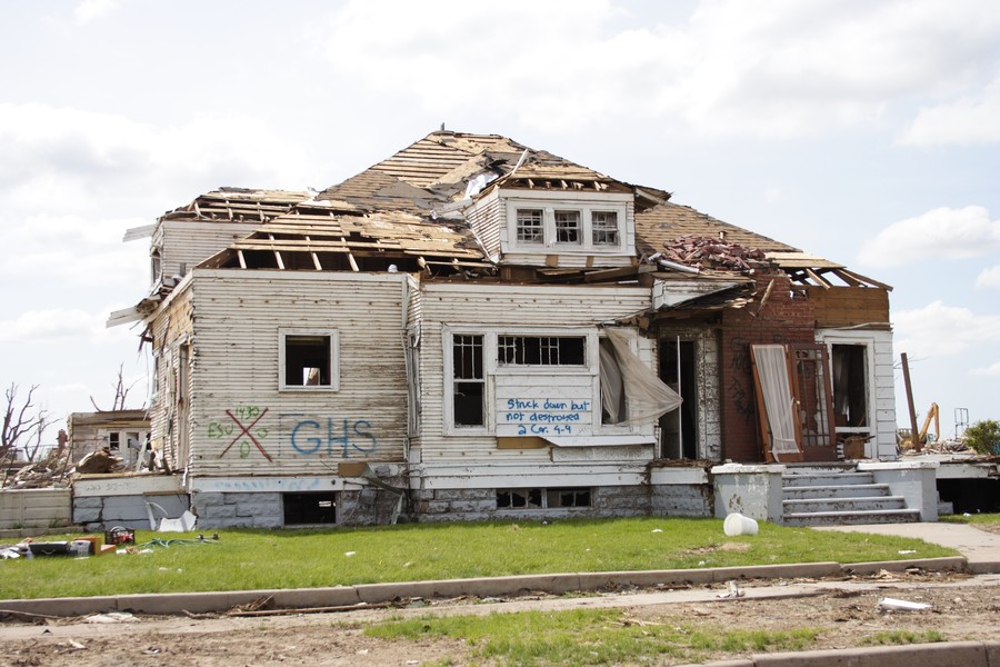
[[[137,531],[150,552],[0,560],[0,599],[300,588],[544,573],[862,563],[957,552],[920,540],[761,522],[729,538],[719,519],[410,524],[329,530]],[[54,541],[69,536],[46,536]],[[901,550],[916,554],[901,555]]]

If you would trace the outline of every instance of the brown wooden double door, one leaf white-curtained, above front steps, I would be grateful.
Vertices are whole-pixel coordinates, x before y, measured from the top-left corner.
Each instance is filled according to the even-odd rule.
[[[826,347],[754,345],[750,350],[764,460],[837,460]]]

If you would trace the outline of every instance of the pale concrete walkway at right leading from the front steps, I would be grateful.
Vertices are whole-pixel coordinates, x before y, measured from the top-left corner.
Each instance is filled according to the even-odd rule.
[[[980,530],[968,524],[871,524],[863,526],[823,526],[816,530],[841,532],[872,532],[913,537],[961,552],[968,570],[976,575],[1000,573],[1000,535]]]

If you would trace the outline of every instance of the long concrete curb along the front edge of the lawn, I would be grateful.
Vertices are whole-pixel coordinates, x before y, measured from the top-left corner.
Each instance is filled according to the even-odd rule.
[[[261,598],[272,598],[282,609],[308,607],[349,607],[361,604],[389,603],[398,598],[449,598],[462,595],[478,597],[513,596],[526,591],[563,594],[616,587],[687,586],[714,584],[733,579],[820,579],[836,575],[901,571],[919,567],[928,570],[966,571],[961,557],[887,560],[877,563],[802,563],[758,565],[706,569],[640,570],[618,573],[568,573],[391,584],[359,584],[329,588],[290,588],[263,590],[226,590],[206,593],[133,594],[82,598],[34,598],[0,600],[0,613],[22,611],[46,616],[84,616],[106,611],[178,615],[184,613],[222,613]],[[834,663],[836,664],[836,663]],[[888,666],[881,666],[888,667]],[[991,667],[1000,667],[1000,660]]]

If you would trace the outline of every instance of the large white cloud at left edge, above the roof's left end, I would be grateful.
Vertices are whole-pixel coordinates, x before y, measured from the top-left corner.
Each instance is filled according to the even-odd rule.
[[[8,208],[77,215],[113,216],[128,205],[159,213],[209,188],[302,187],[317,171],[294,143],[246,116],[159,127],[40,103],[0,103],[0,155]]]

